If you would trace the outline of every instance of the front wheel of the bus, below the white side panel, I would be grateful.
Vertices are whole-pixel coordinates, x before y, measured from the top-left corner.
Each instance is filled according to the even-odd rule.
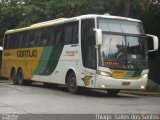
[[[77,93],[78,91],[78,86],[76,83],[76,75],[71,72],[68,76],[67,76],[67,87],[68,87],[68,91],[71,93]]]

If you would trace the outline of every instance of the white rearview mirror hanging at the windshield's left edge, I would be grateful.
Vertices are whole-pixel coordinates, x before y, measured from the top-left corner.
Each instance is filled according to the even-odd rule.
[[[102,45],[102,30],[94,29],[96,35],[96,45]]]

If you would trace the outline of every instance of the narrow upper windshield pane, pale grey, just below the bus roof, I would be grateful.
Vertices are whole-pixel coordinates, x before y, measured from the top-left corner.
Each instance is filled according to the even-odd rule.
[[[98,28],[107,32],[144,35],[142,24],[137,21],[98,18]]]

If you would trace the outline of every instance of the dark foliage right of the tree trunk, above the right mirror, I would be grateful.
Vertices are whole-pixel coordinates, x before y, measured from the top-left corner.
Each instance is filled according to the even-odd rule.
[[[160,39],[160,1],[132,0],[131,16],[141,19],[146,33],[159,36]]]

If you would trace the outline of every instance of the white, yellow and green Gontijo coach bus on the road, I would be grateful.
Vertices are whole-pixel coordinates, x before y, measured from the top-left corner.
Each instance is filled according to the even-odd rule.
[[[151,36],[153,47],[158,39]],[[40,81],[116,95],[122,89],[145,89],[147,41],[142,22],[111,15],[61,18],[8,30],[2,75],[14,84]]]

